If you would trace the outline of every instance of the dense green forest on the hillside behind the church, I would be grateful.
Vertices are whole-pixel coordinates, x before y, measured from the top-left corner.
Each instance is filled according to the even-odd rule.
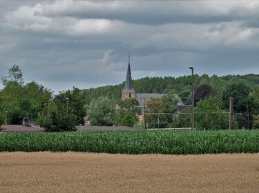
[[[133,80],[133,88],[137,93],[168,93],[175,90],[185,105],[191,104],[191,76],[183,77],[145,77],[142,79]],[[125,82],[124,82],[125,83]],[[86,99],[86,104],[98,98],[99,96],[107,96],[109,99],[119,101],[122,96],[124,83],[119,85],[107,85],[99,88],[90,88],[82,90],[82,94]],[[194,88],[197,89],[199,85],[207,84],[215,89],[217,96],[222,97],[224,90],[233,84],[248,85],[253,89],[255,85],[259,85],[259,74],[246,75],[227,75],[218,77],[213,75],[209,77],[207,74],[199,76],[194,75]]]

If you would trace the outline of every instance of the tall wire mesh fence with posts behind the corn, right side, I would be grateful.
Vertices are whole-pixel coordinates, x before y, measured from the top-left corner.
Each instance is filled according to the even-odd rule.
[[[194,112],[195,129],[229,129],[229,112]],[[233,128],[249,129],[253,127],[250,114],[234,113]],[[146,128],[191,128],[191,113],[146,113]]]

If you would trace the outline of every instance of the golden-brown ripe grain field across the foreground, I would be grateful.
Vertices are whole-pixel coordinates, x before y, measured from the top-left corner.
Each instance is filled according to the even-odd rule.
[[[0,153],[1,192],[258,192],[259,154]]]

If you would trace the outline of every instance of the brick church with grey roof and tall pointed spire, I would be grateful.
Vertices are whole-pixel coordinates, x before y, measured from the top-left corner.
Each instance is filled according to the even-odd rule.
[[[158,94],[158,93],[136,93],[133,88],[132,83],[132,77],[131,77],[131,64],[130,64],[130,56],[128,56],[128,70],[126,74],[126,81],[125,81],[125,87],[124,90],[122,90],[122,100],[124,99],[137,99],[137,101],[140,104],[140,108],[142,108],[142,114],[144,112],[144,106],[146,106],[146,102],[150,101],[151,98],[160,98],[164,94]],[[178,96],[178,94],[175,94],[176,99],[178,99],[177,108],[178,111],[184,110],[186,108],[186,105],[182,103],[182,100]],[[145,103],[145,105],[144,105]]]

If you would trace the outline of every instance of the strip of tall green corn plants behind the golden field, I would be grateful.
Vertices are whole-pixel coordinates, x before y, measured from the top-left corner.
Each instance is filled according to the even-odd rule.
[[[139,130],[0,134],[0,152],[258,153],[259,130]]]

